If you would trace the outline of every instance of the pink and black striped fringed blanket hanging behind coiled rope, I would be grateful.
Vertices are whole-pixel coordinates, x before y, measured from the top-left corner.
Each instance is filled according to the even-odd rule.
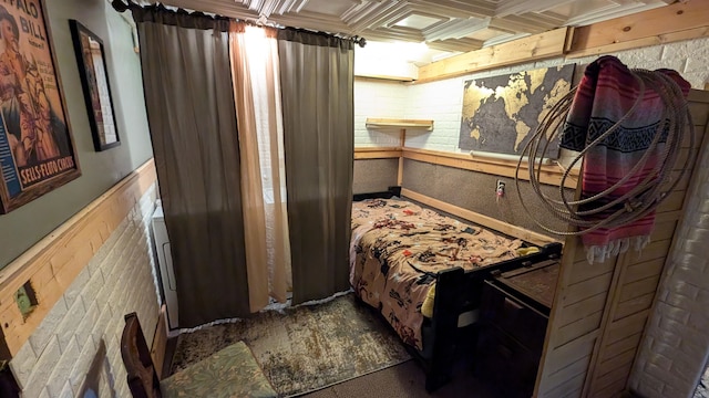
[[[677,72],[659,70],[681,87],[685,96],[689,92],[687,83]],[[643,88],[630,70],[613,56],[602,56],[586,67],[574,97],[571,112],[564,125],[561,146],[580,151],[620,121],[643,93]],[[579,211],[598,209],[630,191],[648,176],[660,158],[666,143],[668,126],[662,121],[664,104],[659,95],[645,88],[643,101],[625,121],[620,128],[589,149],[582,170],[582,198],[590,198],[618,182],[631,172],[645,151],[650,147],[656,134],[662,134],[660,143],[649,154],[646,164],[625,184],[609,196],[579,206]],[[619,203],[598,213],[603,219],[624,207]],[[640,250],[649,242],[655,227],[655,212],[613,229],[597,229],[582,237],[589,263],[603,262],[612,255],[633,247]]]

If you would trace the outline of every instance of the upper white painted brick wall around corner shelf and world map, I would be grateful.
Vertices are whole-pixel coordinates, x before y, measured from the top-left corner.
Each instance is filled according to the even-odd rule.
[[[703,90],[709,82],[709,38],[615,53],[629,67],[655,70],[668,67],[678,71],[693,88]],[[515,66],[474,73],[462,77],[424,84],[356,82],[354,84],[354,146],[390,145],[378,132],[367,132],[369,117],[431,118],[433,132],[407,132],[407,146],[413,148],[460,151],[458,148],[463,108],[463,83],[505,73],[516,73],[567,63],[587,64],[597,56],[582,59],[557,57]],[[583,73],[579,69],[578,73]],[[393,95],[395,92],[397,95]],[[397,134],[391,137],[398,137]],[[397,145],[395,139],[388,140]]]

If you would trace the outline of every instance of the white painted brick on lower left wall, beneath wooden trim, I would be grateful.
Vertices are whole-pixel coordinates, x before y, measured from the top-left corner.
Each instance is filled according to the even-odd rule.
[[[158,314],[150,222],[153,186],[76,276],[10,362],[23,397],[75,397],[99,347],[107,378],[101,397],[130,397],[121,359],[123,315],[137,312],[148,345]]]

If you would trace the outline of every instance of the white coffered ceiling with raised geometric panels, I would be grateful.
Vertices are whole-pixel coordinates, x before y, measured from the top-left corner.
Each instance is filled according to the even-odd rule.
[[[559,27],[577,27],[674,0],[164,0],[167,6],[288,27],[425,42],[467,52]]]

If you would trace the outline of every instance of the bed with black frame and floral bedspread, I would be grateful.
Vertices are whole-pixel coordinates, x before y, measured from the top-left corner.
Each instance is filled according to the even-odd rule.
[[[427,371],[427,389],[448,381],[455,354],[476,338],[483,281],[557,258],[537,247],[398,198],[354,196],[350,284],[377,308]]]

